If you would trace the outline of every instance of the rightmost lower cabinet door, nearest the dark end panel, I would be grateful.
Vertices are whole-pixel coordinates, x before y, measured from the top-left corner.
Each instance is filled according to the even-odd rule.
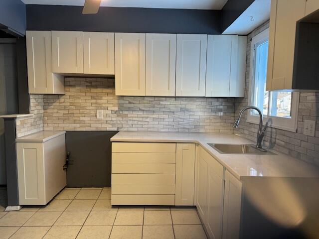
[[[238,239],[241,211],[241,182],[228,171],[225,173],[223,239]]]

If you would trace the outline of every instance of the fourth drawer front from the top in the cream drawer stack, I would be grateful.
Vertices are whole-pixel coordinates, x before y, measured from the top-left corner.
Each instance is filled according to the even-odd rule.
[[[113,184],[175,184],[175,174],[112,174]]]

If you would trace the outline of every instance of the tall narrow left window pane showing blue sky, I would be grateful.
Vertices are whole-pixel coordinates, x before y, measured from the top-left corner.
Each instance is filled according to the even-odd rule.
[[[266,92],[267,58],[268,41],[259,42],[256,44],[255,48],[253,105],[261,109],[265,116],[268,115],[269,105],[269,92]],[[256,115],[258,113],[256,111],[251,111],[251,114]]]

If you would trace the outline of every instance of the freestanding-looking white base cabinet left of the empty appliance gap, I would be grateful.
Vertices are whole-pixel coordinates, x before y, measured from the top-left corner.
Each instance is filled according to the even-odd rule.
[[[46,205],[66,185],[65,132],[47,140],[33,135],[16,139],[20,205]]]

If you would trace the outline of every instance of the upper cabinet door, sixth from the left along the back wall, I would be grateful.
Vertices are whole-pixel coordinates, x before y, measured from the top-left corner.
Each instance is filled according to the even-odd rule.
[[[205,96],[207,35],[178,34],[176,96]]]

